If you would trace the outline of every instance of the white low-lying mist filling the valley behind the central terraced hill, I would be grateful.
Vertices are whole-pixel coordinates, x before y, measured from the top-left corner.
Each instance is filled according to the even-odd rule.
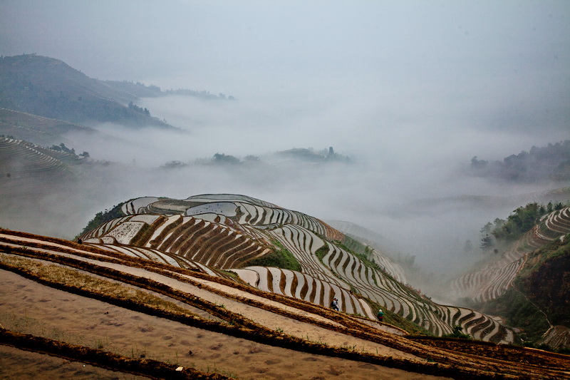
[[[67,136],[92,158],[120,163],[105,168],[104,180],[100,175],[86,180],[83,191],[92,205],[83,215],[84,224],[93,217],[93,204],[103,210],[146,195],[239,193],[322,220],[362,225],[387,237],[403,254],[415,255],[418,266],[449,272],[479,260],[480,228],[519,206],[507,198],[462,196],[507,197],[560,187],[491,183],[468,177],[462,169],[475,155],[502,159],[551,142],[546,138],[562,139],[563,133],[545,136],[528,130],[462,126],[440,115],[400,115],[371,103],[367,97],[345,102],[321,98],[311,110],[301,101],[271,104],[271,99],[142,99],[140,106],[182,132],[99,125],[104,141]],[[273,154],[328,147],[350,162],[307,162]],[[215,153],[232,155],[242,163],[208,164]],[[244,160],[247,155],[259,160]],[[172,160],[186,165],[160,168]],[[470,252],[465,251],[467,240],[474,247]]]

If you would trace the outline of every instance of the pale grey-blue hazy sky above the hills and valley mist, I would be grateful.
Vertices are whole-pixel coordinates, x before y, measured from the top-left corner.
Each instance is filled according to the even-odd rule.
[[[350,128],[570,129],[569,1],[0,0],[0,53],[232,94],[276,124],[325,115],[336,145]]]

